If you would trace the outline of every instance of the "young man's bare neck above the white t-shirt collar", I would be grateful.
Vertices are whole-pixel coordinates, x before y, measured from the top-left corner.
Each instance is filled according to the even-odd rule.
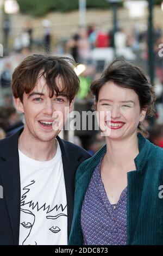
[[[18,139],[18,149],[26,156],[37,161],[49,161],[57,153],[57,139],[44,142],[34,136],[26,136],[26,132],[22,132]]]

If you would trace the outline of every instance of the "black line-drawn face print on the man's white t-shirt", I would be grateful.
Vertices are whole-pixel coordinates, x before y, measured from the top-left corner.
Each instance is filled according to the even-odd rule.
[[[60,235],[60,218],[67,217],[67,204],[49,205],[34,202],[33,193],[36,191],[35,180],[23,188],[21,197],[20,245],[39,245],[48,237],[48,242],[54,244]],[[41,221],[40,221],[41,216]],[[53,220],[53,222],[52,222]],[[53,224],[52,224],[53,223]],[[39,235],[38,235],[39,234]]]

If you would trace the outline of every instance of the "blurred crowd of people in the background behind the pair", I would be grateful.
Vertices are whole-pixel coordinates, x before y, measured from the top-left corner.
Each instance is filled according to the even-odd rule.
[[[17,113],[11,94],[11,76],[21,60],[33,53],[65,54],[72,56],[77,63],[83,64],[79,70],[80,92],[75,108],[79,112],[91,110],[92,95],[90,83],[99,77],[104,66],[115,57],[127,59],[139,64],[147,73],[148,70],[148,27],[137,26],[129,32],[121,27],[117,31],[106,31],[102,27],[91,25],[79,30],[64,41],[52,45],[51,23],[42,20],[42,40],[40,48],[33,39],[33,27],[28,21],[22,33],[15,36],[12,50],[0,58],[0,139],[10,136],[23,127],[23,116]],[[145,120],[144,125],[149,132],[148,139],[159,147],[163,147],[163,58],[159,56],[159,45],[163,43],[162,30],[154,25],[154,67],[156,112],[153,118]],[[75,110],[76,110],[75,109]],[[82,145],[91,155],[105,143],[97,131],[74,132],[74,142]]]

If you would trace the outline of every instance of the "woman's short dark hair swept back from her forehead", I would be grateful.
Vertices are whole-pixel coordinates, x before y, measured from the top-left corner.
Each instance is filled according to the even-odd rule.
[[[95,95],[96,102],[98,101],[99,90],[109,81],[121,88],[133,89],[139,97],[140,108],[147,108],[147,116],[153,115],[155,111],[154,89],[147,80],[143,70],[126,60],[114,60],[104,70],[102,76],[91,83],[91,92]],[[148,135],[148,132],[143,128],[141,123],[139,123],[137,129],[143,136]]]

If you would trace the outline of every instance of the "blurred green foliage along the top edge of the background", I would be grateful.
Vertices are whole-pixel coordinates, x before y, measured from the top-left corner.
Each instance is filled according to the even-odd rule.
[[[17,0],[21,13],[43,16],[49,11],[72,11],[78,9],[79,0]],[[155,0],[161,4],[162,0]],[[87,8],[109,8],[106,0],[86,0]]]

